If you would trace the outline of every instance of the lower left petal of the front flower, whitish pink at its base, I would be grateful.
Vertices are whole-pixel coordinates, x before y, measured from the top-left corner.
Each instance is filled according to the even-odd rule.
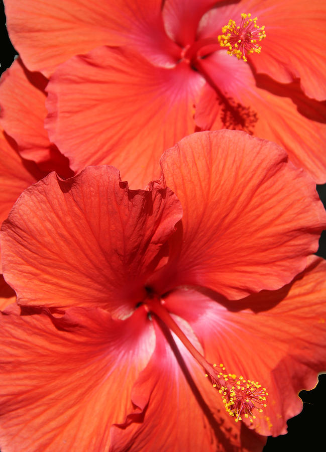
[[[6,452],[107,450],[110,427],[155,347],[144,312],[113,320],[71,308],[64,317],[1,314],[0,446]]]

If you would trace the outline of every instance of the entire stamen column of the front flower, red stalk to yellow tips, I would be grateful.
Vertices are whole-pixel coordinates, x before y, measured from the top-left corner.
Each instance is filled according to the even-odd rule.
[[[164,300],[152,296],[146,300],[145,308],[150,314],[159,317],[179,337],[182,344],[204,369],[205,377],[210,379],[213,388],[219,391],[230,416],[234,416],[236,422],[244,418],[253,422],[253,419],[256,418],[255,410],[262,412],[261,407],[266,407],[265,401],[268,396],[266,389],[262,388],[258,382],[245,380],[243,376],[237,378],[235,374],[228,374],[223,364],[217,366],[208,363],[165,309]]]

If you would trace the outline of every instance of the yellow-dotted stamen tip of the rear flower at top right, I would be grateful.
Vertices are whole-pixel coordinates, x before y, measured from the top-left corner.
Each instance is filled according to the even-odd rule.
[[[222,33],[218,37],[220,45],[229,48],[229,55],[236,55],[238,60],[242,58],[244,61],[247,61],[248,54],[260,53],[259,42],[266,38],[265,26],[259,27],[257,17],[252,19],[250,13],[242,13],[240,25],[230,19]]]

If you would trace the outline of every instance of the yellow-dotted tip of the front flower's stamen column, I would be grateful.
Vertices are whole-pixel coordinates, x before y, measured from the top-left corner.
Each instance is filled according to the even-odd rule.
[[[238,378],[235,374],[226,373],[223,364],[219,367],[213,364],[212,368],[213,372],[210,368],[205,377],[209,377],[213,388],[219,391],[230,416],[236,422],[244,419],[253,422],[256,419],[255,411],[262,413],[263,407],[266,407],[266,388],[262,388],[257,381],[245,380],[242,375]]]

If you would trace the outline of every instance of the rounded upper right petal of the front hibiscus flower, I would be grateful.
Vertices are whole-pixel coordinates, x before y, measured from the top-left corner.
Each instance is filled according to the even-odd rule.
[[[276,144],[201,132],[167,150],[161,166],[183,216],[156,293],[190,284],[234,299],[278,289],[317,250],[324,208],[312,179]]]

